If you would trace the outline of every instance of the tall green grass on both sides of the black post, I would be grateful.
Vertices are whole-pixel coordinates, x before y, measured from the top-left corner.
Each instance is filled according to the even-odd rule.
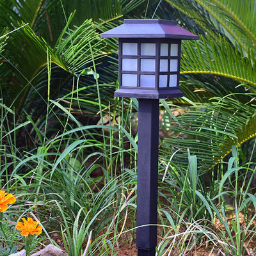
[[[41,106],[46,111],[38,119],[24,113],[24,119],[16,120],[13,109],[0,102],[1,189],[17,198],[4,214],[8,236],[0,236],[8,246],[0,250],[3,255],[19,250],[22,241],[13,221],[32,215],[44,227],[42,246],[56,244],[52,234],[59,233],[70,256],[116,255],[122,243],[134,244],[136,231],[138,101],[103,103],[106,84],[99,83],[95,65],[97,99],[83,97],[88,87],[79,88],[80,76],[74,76],[72,92],[51,99],[49,56],[47,72],[47,99]],[[162,103],[164,114],[175,118]],[[90,108],[99,108],[97,122],[84,125],[81,117]],[[182,168],[183,163],[174,166],[175,154],[160,151],[157,255],[188,255],[200,246],[222,255],[251,252],[256,217],[254,150],[255,143],[248,163],[241,165],[239,149],[233,147],[227,163],[218,166],[218,175],[216,170],[207,173],[209,184],[189,150],[188,168]],[[125,234],[129,236],[124,239]]]

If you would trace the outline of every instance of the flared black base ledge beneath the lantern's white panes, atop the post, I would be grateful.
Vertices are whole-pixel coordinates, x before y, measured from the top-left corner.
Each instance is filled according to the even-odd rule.
[[[118,89],[115,97],[138,98],[138,99],[172,99],[182,97],[183,93],[179,89],[164,90],[143,90],[143,89]]]

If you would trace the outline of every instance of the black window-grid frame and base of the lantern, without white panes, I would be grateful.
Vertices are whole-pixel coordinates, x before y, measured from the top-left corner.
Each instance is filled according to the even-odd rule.
[[[138,45],[137,55],[124,55],[123,54],[123,43],[136,43]],[[154,43],[156,44],[156,56],[148,56],[141,54],[141,44]],[[160,56],[161,44],[168,44],[168,56]],[[178,56],[170,56],[170,45],[178,44]],[[136,97],[145,99],[161,99],[169,97],[182,97],[182,92],[179,90],[179,74],[180,74],[180,48],[181,40],[170,39],[170,38],[119,38],[119,90],[115,92],[115,96],[118,97]],[[136,59],[137,60],[137,70],[136,71],[126,71],[123,70],[123,59]],[[141,59],[151,59],[156,60],[156,71],[141,71]],[[168,71],[160,72],[160,60],[168,60]],[[170,60],[177,60],[178,67],[177,71],[170,71]],[[122,75],[123,74],[135,74],[137,76],[137,84],[134,86],[123,86],[122,85]],[[177,86],[170,86],[170,76],[177,75]],[[155,76],[155,86],[140,86],[141,75],[154,75]],[[166,87],[159,87],[159,76],[167,76]]]

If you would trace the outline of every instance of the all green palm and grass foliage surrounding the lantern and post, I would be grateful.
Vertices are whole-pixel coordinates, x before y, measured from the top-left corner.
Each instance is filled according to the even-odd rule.
[[[35,214],[44,243],[56,244],[57,232],[72,256],[116,255],[120,241],[133,242],[138,100],[113,99],[117,40],[100,33],[132,15],[172,17],[200,40],[182,43],[185,97],[161,100],[157,253],[188,255],[205,243],[248,253],[256,83],[255,8],[246,4],[0,0],[1,187],[17,197],[10,221]],[[5,228],[3,254],[17,249]]]

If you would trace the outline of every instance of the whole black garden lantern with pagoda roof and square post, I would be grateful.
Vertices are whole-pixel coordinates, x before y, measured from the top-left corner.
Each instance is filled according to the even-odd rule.
[[[138,256],[157,246],[159,99],[182,97],[179,90],[182,40],[198,36],[173,20],[136,19],[102,33],[118,38],[119,89],[116,97],[138,98]]]

